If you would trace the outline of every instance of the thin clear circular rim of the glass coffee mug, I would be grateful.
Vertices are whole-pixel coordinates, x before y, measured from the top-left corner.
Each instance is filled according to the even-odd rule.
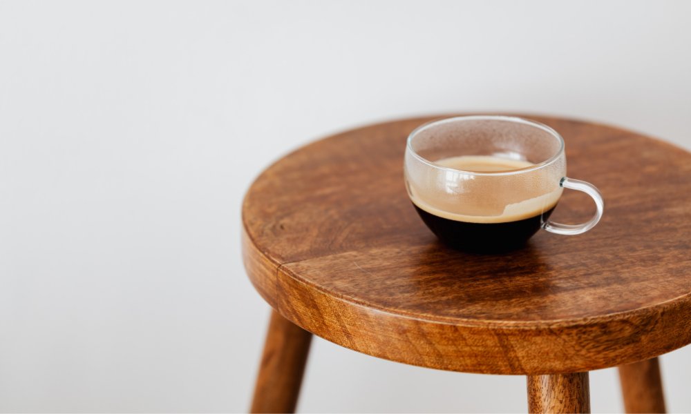
[[[422,155],[419,155],[415,150],[413,149],[413,138],[415,135],[419,134],[419,132],[422,132],[428,128],[433,128],[435,126],[439,126],[442,124],[448,124],[451,122],[455,121],[477,121],[477,120],[490,120],[490,121],[506,121],[506,122],[513,122],[517,124],[525,124],[532,126],[534,128],[541,129],[545,132],[548,132],[549,135],[551,135],[553,138],[555,138],[558,143],[559,143],[559,149],[557,150],[556,154],[554,154],[552,157],[546,159],[545,161],[542,161],[538,164],[535,164],[533,166],[529,166],[526,168],[520,168],[518,170],[510,170],[510,171],[500,171],[500,172],[477,172],[477,171],[466,171],[466,170],[459,170],[457,168],[449,168],[445,166],[440,166],[439,164],[436,164],[434,161],[430,161],[426,159],[425,157],[422,157]],[[417,158],[419,161],[421,161],[424,164],[427,164],[430,167],[433,168],[438,168],[439,170],[446,170],[446,171],[451,171],[451,172],[460,172],[462,174],[467,174],[467,175],[485,175],[485,176],[502,176],[502,175],[518,175],[522,174],[524,172],[529,172],[529,171],[534,171],[534,170],[539,170],[540,168],[545,168],[546,166],[549,166],[550,164],[553,164],[556,162],[564,152],[564,138],[559,134],[559,132],[556,132],[553,128],[550,128],[549,126],[542,124],[538,121],[532,121],[530,119],[525,119],[521,117],[510,117],[507,115],[461,115],[458,117],[451,117],[451,118],[444,118],[444,119],[436,119],[434,121],[429,121],[426,122],[425,124],[422,124],[421,126],[418,126],[415,128],[410,134],[408,135],[408,141],[406,143],[406,149],[410,152],[413,157]]]

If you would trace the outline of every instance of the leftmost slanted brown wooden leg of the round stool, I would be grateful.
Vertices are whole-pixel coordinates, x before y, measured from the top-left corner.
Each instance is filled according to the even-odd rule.
[[[312,334],[272,311],[252,413],[294,413]]]

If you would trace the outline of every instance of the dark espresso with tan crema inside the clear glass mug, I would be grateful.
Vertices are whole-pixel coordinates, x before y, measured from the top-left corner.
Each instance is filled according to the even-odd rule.
[[[453,157],[436,161],[435,164],[473,172],[505,172],[533,165],[527,161],[484,156]],[[494,253],[523,246],[551,215],[559,195],[560,192],[532,199],[525,197],[518,204],[500,205],[499,211],[504,210],[500,215],[449,213],[435,208],[437,203],[434,199],[416,199],[414,195],[411,195],[411,199],[424,223],[447,246],[477,253]],[[487,197],[497,198],[493,196],[490,188]],[[518,196],[516,198],[521,199],[520,193]]]

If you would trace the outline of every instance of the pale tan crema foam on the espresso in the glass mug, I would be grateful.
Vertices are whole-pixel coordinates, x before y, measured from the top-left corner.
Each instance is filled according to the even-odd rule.
[[[506,159],[492,156],[451,157],[435,161],[435,164],[455,170],[471,172],[505,172],[529,168],[534,165],[529,161],[520,159]],[[423,200],[421,197],[417,196],[414,188],[409,186],[409,190],[410,199],[413,201],[413,204],[438,217],[455,221],[465,221],[466,223],[506,223],[508,221],[518,221],[535,217],[550,210],[556,206],[559,201],[563,188],[558,186],[550,193],[525,199],[518,203],[508,204],[504,206],[504,210],[500,215],[464,215],[451,213],[434,207],[432,204],[439,204],[435,203],[434,199]]]

